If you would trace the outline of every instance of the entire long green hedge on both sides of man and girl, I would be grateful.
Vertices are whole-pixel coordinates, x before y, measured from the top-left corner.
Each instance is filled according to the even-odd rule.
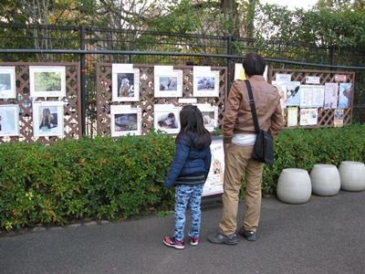
[[[265,167],[264,195],[276,193],[284,168],[310,172],[316,163],[365,162],[365,124],[330,129],[286,129],[276,137],[276,162]],[[173,189],[162,187],[174,139],[85,137],[51,145],[0,145],[0,228],[66,225],[164,212]],[[245,184],[243,186],[245,190]]]

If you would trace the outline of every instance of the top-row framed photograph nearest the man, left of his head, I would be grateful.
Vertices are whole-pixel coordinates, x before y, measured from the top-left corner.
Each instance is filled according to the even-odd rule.
[[[219,71],[211,71],[210,67],[194,67],[193,97],[218,97],[218,96],[219,96]]]

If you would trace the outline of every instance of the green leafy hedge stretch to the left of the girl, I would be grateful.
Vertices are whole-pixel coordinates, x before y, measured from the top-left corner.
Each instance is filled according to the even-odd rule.
[[[162,187],[174,153],[172,136],[85,137],[51,145],[0,146],[0,227],[65,225],[166,209]]]

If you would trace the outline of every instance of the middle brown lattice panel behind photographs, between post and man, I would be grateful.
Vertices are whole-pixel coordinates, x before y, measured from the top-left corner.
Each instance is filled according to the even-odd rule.
[[[152,65],[133,65],[140,69],[140,100],[139,101],[112,101],[111,64],[97,65],[97,128],[98,134],[110,135],[110,105],[129,104],[131,108],[141,108],[141,134],[146,134],[153,127],[154,104],[173,104],[182,106],[181,98],[154,98],[154,70]],[[174,69],[183,70],[183,99],[193,98],[193,67],[174,66]],[[227,94],[226,68],[212,67],[219,70],[219,97],[196,97],[197,103],[206,103],[218,107],[218,126],[221,124],[224,112],[224,101]]]

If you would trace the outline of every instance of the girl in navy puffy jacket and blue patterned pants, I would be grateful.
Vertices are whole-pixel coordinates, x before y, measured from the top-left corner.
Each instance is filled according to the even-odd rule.
[[[201,200],[203,184],[211,165],[211,134],[204,128],[202,112],[196,106],[186,105],[180,111],[181,130],[176,136],[176,150],[172,166],[163,185],[175,185],[175,232],[165,237],[163,243],[172,248],[183,249],[185,210],[189,202],[192,226],[189,230],[190,244],[199,242],[201,224]]]

